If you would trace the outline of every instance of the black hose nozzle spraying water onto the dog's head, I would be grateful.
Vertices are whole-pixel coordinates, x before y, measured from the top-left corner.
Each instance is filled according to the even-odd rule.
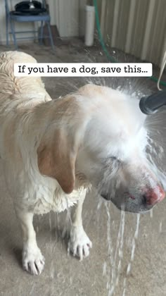
[[[153,114],[166,105],[166,91],[156,92],[149,97],[142,97],[139,101],[139,108],[144,114]]]

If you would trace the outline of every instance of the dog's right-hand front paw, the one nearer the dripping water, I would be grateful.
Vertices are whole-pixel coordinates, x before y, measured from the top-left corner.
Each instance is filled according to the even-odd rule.
[[[92,243],[84,232],[84,228],[82,226],[72,226],[68,248],[73,256],[78,256],[81,261],[83,257],[89,256],[89,249],[91,247]]]

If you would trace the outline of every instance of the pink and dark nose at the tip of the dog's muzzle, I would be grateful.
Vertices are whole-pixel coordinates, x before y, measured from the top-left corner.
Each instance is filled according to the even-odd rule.
[[[165,198],[165,191],[162,187],[157,186],[154,189],[146,190],[143,195],[144,202],[149,206],[154,206],[157,202],[161,202]]]

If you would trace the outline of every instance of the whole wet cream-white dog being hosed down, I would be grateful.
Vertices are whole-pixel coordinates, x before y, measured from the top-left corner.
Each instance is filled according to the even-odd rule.
[[[82,204],[92,186],[125,211],[151,209],[165,197],[146,159],[145,116],[139,101],[108,87],[85,85],[51,100],[40,78],[15,78],[13,64],[34,63],[17,51],[0,55],[0,155],[23,230],[23,268],[39,274],[34,214],[77,203],[70,249],[80,259],[91,241]]]

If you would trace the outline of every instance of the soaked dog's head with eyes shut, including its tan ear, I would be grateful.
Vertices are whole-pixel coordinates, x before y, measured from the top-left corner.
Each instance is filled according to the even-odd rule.
[[[139,101],[108,87],[86,85],[55,103],[37,149],[41,174],[65,193],[91,183],[119,209],[147,211],[165,197],[146,159]]]

